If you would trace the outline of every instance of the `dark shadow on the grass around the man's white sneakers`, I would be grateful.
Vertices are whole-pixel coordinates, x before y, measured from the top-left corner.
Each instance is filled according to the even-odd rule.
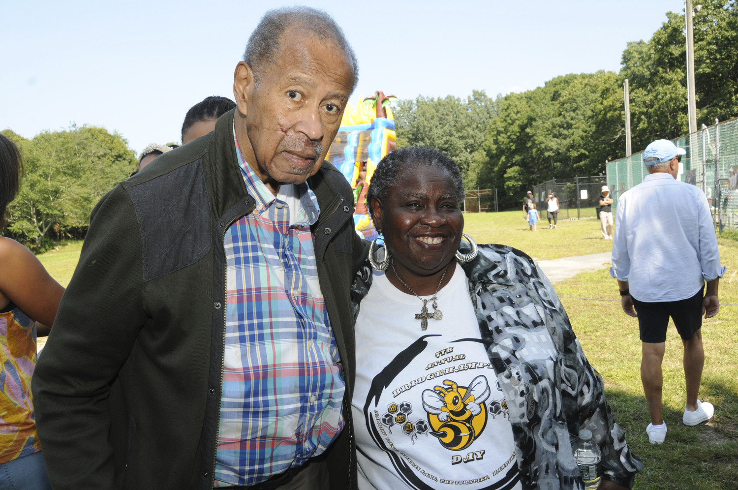
[[[702,391],[721,392],[721,386],[703,380]],[[728,392],[728,398],[737,397],[724,386],[722,390]],[[724,422],[727,418],[735,425],[730,411],[716,408],[716,416],[709,424],[686,427],[682,424],[682,412],[664,407],[663,419],[669,432],[663,444],[655,445],[646,435],[650,417],[644,396],[605,391],[628,446],[644,462],[644,471],[636,477],[634,489],[738,489],[738,434]],[[728,405],[735,407],[730,402]]]

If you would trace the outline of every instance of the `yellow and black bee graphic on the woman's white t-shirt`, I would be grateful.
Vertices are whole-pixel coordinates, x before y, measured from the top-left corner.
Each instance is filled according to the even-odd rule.
[[[461,451],[486,426],[484,401],[489,398],[489,383],[484,376],[477,376],[468,387],[460,387],[450,379],[444,379],[443,384],[423,391],[423,408],[433,429],[430,434],[446,449]]]

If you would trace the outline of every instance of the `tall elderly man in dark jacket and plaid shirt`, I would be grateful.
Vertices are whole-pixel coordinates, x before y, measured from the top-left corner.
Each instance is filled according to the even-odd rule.
[[[266,13],[236,108],[97,204],[33,380],[55,489],[351,488],[362,246],[323,159],[356,77],[328,15]]]

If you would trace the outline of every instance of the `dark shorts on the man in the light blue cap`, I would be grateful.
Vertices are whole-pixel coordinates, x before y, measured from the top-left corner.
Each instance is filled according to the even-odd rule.
[[[686,300],[645,303],[632,297],[635,313],[638,314],[641,342],[652,344],[666,342],[669,317],[674,320],[674,325],[682,339],[692,339],[694,333],[702,328],[703,297],[705,297],[704,286],[697,291],[697,294]]]

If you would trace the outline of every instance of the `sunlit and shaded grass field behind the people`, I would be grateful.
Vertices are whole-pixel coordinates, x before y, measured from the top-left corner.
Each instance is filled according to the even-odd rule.
[[[582,216],[594,217],[594,210]],[[565,215],[565,214],[564,214]],[[576,217],[576,210],[570,212]],[[508,244],[534,258],[549,260],[610,252],[612,242],[601,238],[599,221],[560,220],[556,230],[548,221],[528,231],[522,211],[465,215],[465,232],[477,243]],[[715,406],[713,420],[699,427],[681,423],[684,410],[682,346],[673,325],[663,361],[663,416],[669,427],[666,442],[649,444],[648,409],[640,377],[641,342],[638,321],[620,308],[615,280],[607,269],[584,272],[556,283],[590,364],[601,373],[607,397],[633,452],[644,460],[635,489],[738,489],[738,233],[719,238],[720,258],[727,266],[720,281],[720,313],[703,323],[706,362],[700,398]],[[49,272],[66,286],[74,272],[81,242],[71,242],[40,255]],[[675,278],[678,280],[678,278]]]

